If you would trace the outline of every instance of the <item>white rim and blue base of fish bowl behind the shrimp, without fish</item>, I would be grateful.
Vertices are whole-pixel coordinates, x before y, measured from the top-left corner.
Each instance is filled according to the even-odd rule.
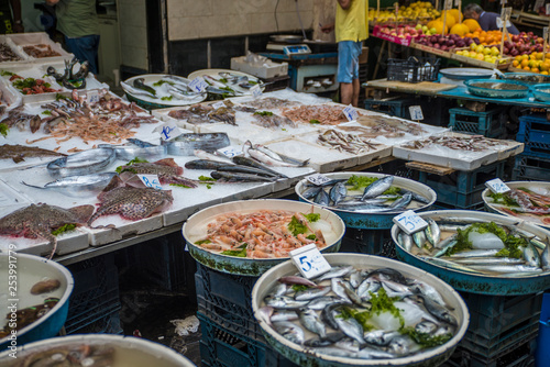
[[[366,177],[377,177],[384,178],[387,175],[384,174],[373,174],[373,173],[336,173],[336,174],[323,174],[329,179],[340,179],[340,178],[350,178],[352,175],[355,176],[366,176]],[[309,182],[307,179],[300,180],[296,187],[296,194],[299,197],[300,201],[305,201],[317,205],[314,201],[309,199],[305,199],[301,196],[301,192],[305,190],[305,185]],[[394,176],[394,182],[392,186],[396,186],[398,188],[409,190],[421,194],[422,197],[430,200],[429,203],[422,204],[421,207],[411,209],[414,211],[427,210],[430,208],[437,199],[437,193],[431,188],[424,184],[419,184],[417,181],[410,180],[408,178],[403,178],[398,176]],[[394,225],[393,219],[395,215],[404,212],[407,209],[387,213],[358,213],[349,210],[339,210],[330,208],[330,211],[337,213],[345,223],[346,226],[352,229],[363,229],[363,230],[389,230],[392,225]]]

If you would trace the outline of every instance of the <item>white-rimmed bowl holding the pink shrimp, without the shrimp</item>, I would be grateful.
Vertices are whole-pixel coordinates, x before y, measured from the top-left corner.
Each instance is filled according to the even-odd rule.
[[[193,214],[185,222],[182,233],[188,245],[189,254],[200,264],[223,273],[258,277],[271,267],[285,262],[288,257],[280,258],[245,258],[212,253],[196,245],[207,234],[207,224],[219,215],[241,212],[251,213],[258,210],[287,210],[300,213],[319,213],[321,219],[330,223],[332,241],[327,240],[327,246],[321,253],[336,253],[345,232],[345,224],[333,212],[305,202],[280,199],[240,200],[218,205],[212,205]]]

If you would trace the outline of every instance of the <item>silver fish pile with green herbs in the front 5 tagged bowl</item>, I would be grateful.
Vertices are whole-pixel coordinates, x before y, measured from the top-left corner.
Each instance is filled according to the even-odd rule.
[[[393,359],[447,343],[453,308],[431,285],[391,268],[336,266],[308,280],[287,276],[264,299],[260,318],[306,352]]]

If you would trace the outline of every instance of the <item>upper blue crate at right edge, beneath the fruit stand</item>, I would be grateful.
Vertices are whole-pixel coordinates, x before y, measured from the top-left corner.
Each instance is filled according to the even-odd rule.
[[[550,121],[546,114],[520,116],[516,140],[525,144],[525,154],[550,159]]]

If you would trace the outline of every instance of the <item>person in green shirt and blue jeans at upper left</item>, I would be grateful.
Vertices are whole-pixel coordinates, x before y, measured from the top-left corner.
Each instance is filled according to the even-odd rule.
[[[46,0],[55,5],[57,30],[65,35],[68,51],[80,60],[90,63],[98,74],[99,22],[96,0]]]

